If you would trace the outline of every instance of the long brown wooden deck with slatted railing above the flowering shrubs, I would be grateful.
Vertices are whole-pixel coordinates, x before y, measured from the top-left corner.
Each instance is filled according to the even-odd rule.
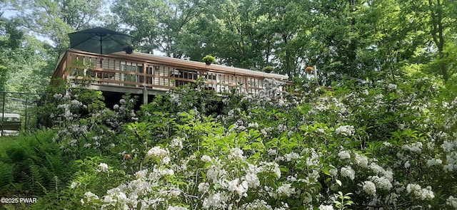
[[[205,78],[202,88],[217,93],[237,91],[258,94],[263,80],[287,80],[286,75],[263,73],[224,65],[206,65],[196,61],[125,52],[101,55],[84,51],[66,51],[56,66],[53,78],[91,79],[89,88],[118,93],[163,95],[171,88]],[[292,83],[286,81],[286,87]],[[285,88],[286,88],[285,87]],[[147,101],[147,100],[144,100]]]

